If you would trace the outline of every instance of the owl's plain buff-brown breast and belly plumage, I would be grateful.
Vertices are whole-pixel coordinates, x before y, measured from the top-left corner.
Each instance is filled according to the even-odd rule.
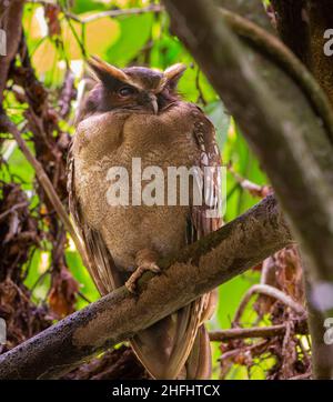
[[[121,124],[94,122],[89,135],[103,124],[98,144],[90,138],[82,152],[77,148],[75,188],[88,223],[103,233],[115,259],[124,250],[134,255],[153,245],[163,254],[182,247],[189,208],[168,203],[168,192],[178,192],[168,183],[170,170],[198,162],[192,123],[176,113],[132,115]]]

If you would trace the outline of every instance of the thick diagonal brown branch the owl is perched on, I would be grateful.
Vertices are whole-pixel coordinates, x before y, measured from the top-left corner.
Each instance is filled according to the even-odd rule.
[[[219,231],[159,261],[138,295],[124,287],[0,355],[0,379],[58,378],[133,336],[292,242],[273,195]]]

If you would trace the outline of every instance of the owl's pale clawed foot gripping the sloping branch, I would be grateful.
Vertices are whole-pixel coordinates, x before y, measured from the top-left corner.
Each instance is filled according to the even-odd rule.
[[[138,283],[139,279],[143,275],[144,272],[147,272],[147,271],[151,271],[153,273],[161,272],[160,268],[155,263],[157,259],[158,259],[158,255],[152,250],[144,249],[144,250],[140,250],[137,253],[135,261],[137,261],[138,268],[125,282],[125,287],[128,288],[128,290],[131,293],[135,293],[137,283]]]

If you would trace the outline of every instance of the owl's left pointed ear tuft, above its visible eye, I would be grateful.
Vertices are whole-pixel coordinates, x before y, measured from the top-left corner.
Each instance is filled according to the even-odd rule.
[[[94,78],[104,84],[112,84],[113,82],[129,82],[130,78],[120,69],[107,63],[100,58],[92,56],[88,60],[88,64]]]

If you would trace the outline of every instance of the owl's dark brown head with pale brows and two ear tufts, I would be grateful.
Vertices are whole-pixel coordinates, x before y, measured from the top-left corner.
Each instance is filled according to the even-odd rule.
[[[85,115],[114,109],[158,114],[179,99],[176,84],[185,70],[181,63],[165,71],[143,67],[118,69],[95,57],[89,66],[97,86],[88,97]]]

